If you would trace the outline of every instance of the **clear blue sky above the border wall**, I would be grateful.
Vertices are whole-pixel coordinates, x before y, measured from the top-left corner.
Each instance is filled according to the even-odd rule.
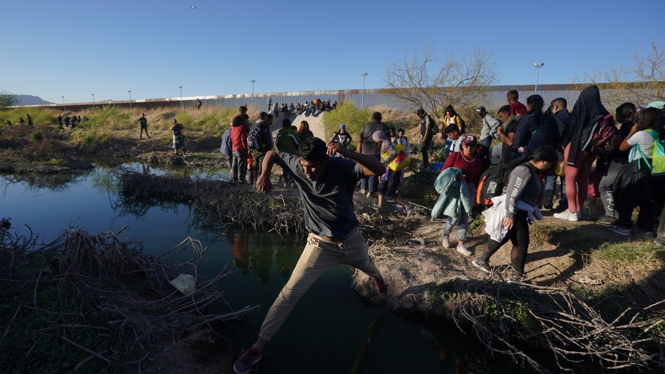
[[[196,9],[190,9],[196,5]],[[665,48],[665,1],[3,1],[0,89],[61,102],[382,88],[433,47],[492,48],[503,85],[570,83]]]

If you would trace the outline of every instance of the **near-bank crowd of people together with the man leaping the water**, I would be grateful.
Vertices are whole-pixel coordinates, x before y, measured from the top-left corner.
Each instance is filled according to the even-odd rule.
[[[497,110],[498,119],[484,106],[477,107],[475,114],[482,122],[479,136],[467,134],[466,123],[452,105],[444,111],[443,130],[425,110],[416,111],[424,168],[430,167],[428,152],[434,136],[440,134],[445,142],[445,162],[434,184],[440,197],[431,218],[445,218],[444,248],[450,246],[450,233],[457,226],[456,252],[471,256],[471,250],[465,246],[467,223],[474,205],[481,206],[489,239],[471,262],[475,268],[491,274],[489,259],[511,242],[513,276],[508,281],[524,281],[529,226],[543,219],[541,209],[553,209],[557,184],[561,185],[557,206],[560,212],[554,214],[555,218],[581,220],[587,191],[592,186],[599,190],[596,194],[605,208],[600,223],[612,225],[612,231],[625,236],[634,233],[653,238],[655,229],[654,243],[665,245],[665,102],[652,102],[648,108],[624,103],[616,108],[613,117],[602,105],[595,86],[582,91],[572,112],[564,98],[552,100],[545,108],[543,98],[537,94],[522,104],[519,93],[509,91],[507,104]],[[234,131],[247,131],[248,118],[243,107],[234,118],[232,127],[237,122],[238,130],[231,130],[232,138]],[[266,121],[267,114],[261,112],[250,132],[258,134]],[[291,278],[263,321],[257,341],[237,359],[236,373],[249,372],[261,359],[267,343],[295,304],[331,267],[353,266],[374,280],[379,295],[388,294],[389,285],[368,256],[354,213],[352,194],[358,181],[360,194],[378,198],[378,210],[386,200],[393,200],[404,207],[406,218],[413,213],[413,204],[398,194],[404,170],[394,167],[400,152],[408,155],[411,151],[410,141],[404,136],[404,129],[388,128],[382,123],[380,112],[374,112],[372,122],[360,130],[358,152],[348,148],[352,135],[344,124],[327,144],[313,136],[303,139],[302,124],[298,132],[290,126],[291,122],[285,119],[275,140],[277,152],[271,150],[269,131],[248,137],[260,139],[253,151],[255,158],[261,160],[255,169],[256,186],[259,192],[270,192],[270,172],[274,164],[279,164],[285,173],[285,185],[299,186],[310,234]],[[245,143],[242,136],[239,139],[240,150]],[[236,142],[232,142],[232,179],[238,180],[242,174],[236,170]],[[639,208],[639,214],[638,228],[633,231],[634,208]],[[654,228],[656,216],[660,216],[660,222]]]

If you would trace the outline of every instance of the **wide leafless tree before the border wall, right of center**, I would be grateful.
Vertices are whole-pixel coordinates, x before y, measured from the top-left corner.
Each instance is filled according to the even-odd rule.
[[[448,104],[456,108],[475,106],[489,85],[497,82],[497,67],[491,49],[473,49],[466,55],[451,51],[438,59],[432,48],[388,65],[383,81],[414,109],[424,108],[436,116]]]

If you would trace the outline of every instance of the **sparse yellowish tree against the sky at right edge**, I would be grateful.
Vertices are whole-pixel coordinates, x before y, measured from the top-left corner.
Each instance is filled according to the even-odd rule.
[[[604,91],[603,101],[611,106],[627,100],[644,106],[654,100],[665,100],[665,51],[654,40],[648,55],[633,53],[632,57],[632,65],[585,73],[584,81],[598,85]],[[580,89],[587,85],[576,79],[573,82]]]

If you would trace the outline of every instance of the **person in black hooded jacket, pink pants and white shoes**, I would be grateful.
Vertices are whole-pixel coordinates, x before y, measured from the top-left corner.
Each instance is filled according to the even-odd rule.
[[[595,154],[590,150],[593,130],[608,114],[600,101],[600,91],[596,85],[582,90],[573,107],[571,124],[561,143],[561,146],[565,147],[563,159],[566,162],[564,171],[568,209],[555,213],[555,218],[569,221],[579,221],[582,218],[581,208],[587,198],[591,166],[596,160]]]

